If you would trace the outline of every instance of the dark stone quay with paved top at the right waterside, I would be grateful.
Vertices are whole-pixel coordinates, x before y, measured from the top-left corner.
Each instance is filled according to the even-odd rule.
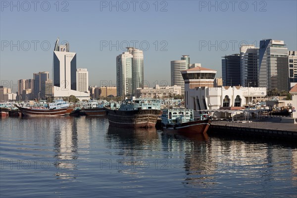
[[[297,141],[297,124],[281,123],[281,118],[266,118],[252,122],[213,120],[207,133]]]

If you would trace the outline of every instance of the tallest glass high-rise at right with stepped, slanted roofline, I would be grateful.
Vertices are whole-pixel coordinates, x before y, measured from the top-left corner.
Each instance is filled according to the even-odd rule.
[[[258,85],[268,90],[289,88],[288,49],[284,41],[266,39],[260,41]]]

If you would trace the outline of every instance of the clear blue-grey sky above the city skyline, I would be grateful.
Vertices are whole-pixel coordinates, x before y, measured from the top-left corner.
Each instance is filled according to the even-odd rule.
[[[170,85],[170,61],[217,70],[241,44],[283,40],[297,50],[297,0],[0,0],[0,82],[49,71],[56,39],[77,53],[89,85],[116,85],[116,56],[144,51],[145,85]]]

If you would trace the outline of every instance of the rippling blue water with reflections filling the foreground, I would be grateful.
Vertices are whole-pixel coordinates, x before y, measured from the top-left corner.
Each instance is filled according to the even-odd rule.
[[[1,198],[297,196],[296,146],[110,128],[105,117],[0,129]]]

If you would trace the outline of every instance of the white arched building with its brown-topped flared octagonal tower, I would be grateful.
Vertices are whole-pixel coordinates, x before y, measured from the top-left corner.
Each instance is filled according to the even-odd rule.
[[[266,88],[262,87],[217,86],[214,84],[216,71],[212,69],[196,67],[181,73],[188,109],[235,109],[252,103],[256,97],[266,96]]]

